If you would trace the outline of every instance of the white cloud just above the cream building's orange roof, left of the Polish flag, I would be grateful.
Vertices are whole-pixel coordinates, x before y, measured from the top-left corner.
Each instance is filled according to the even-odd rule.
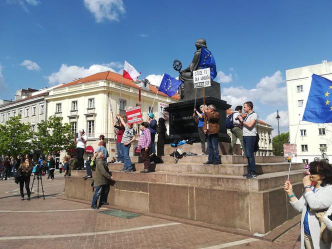
[[[112,63],[116,62],[110,62],[108,64]],[[88,68],[85,68],[84,66],[77,66],[77,65],[68,66],[66,64],[62,64],[57,72],[53,72],[48,76],[48,83],[49,84],[68,83],[76,78],[86,77],[88,75],[97,72],[103,72],[108,70],[116,72],[116,70],[114,70],[113,68],[100,64],[93,64]]]

